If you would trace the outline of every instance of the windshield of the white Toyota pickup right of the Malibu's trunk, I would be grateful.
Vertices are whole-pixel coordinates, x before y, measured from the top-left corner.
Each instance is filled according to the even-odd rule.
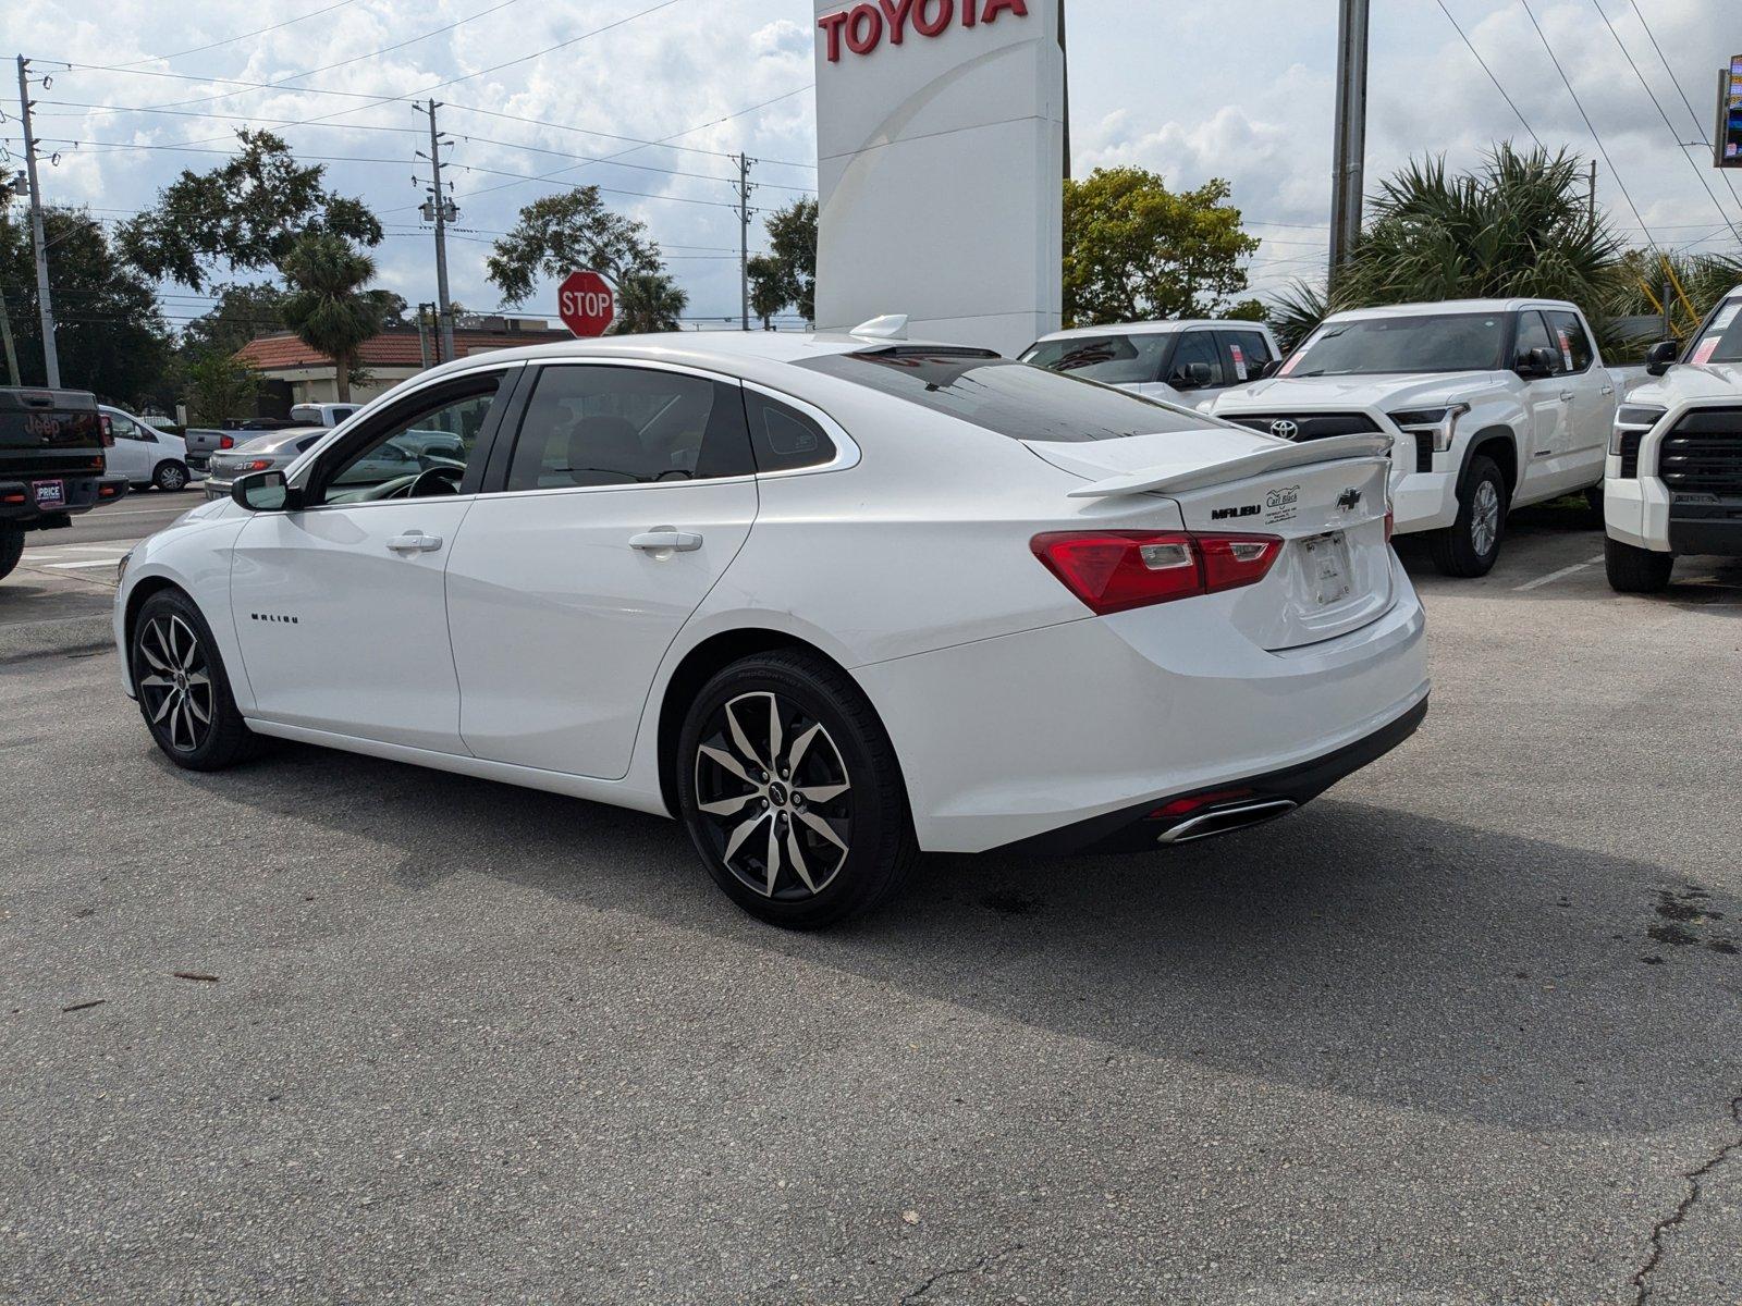
[[[1327,322],[1282,364],[1282,376],[1475,373],[1502,366],[1509,313],[1432,313]]]

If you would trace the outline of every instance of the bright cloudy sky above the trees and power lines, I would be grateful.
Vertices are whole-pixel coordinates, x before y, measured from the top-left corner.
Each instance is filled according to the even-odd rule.
[[[1369,181],[1411,155],[1467,164],[1531,132],[1596,153],[1552,49],[1608,150],[1597,195],[1613,221],[1639,240],[1643,223],[1665,246],[1735,249],[1725,223],[1742,225],[1742,172],[1714,172],[1707,150],[1683,143],[1711,132],[1716,70],[1742,52],[1742,3],[1528,2],[1374,0]],[[1228,178],[1265,240],[1254,287],[1319,272],[1334,0],[1068,5],[1077,174],[1141,164],[1178,186]],[[54,202],[120,221],[183,167],[218,164],[237,127],[268,124],[381,214],[381,280],[432,300],[413,185],[425,118],[409,101],[434,92],[455,138],[456,300],[493,308],[493,235],[521,204],[587,181],[662,242],[693,315],[726,317],[739,300],[728,155],[760,160],[756,205],[815,185],[810,12],[810,0],[30,0],[5,5],[0,49],[52,73],[37,134],[59,151],[44,171]],[[0,106],[16,158],[16,104]],[[204,308],[169,294],[172,320]],[[526,310],[554,312],[550,287]]]

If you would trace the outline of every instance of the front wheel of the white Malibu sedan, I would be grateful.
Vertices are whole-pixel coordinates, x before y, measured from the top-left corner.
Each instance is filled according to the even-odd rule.
[[[157,747],[176,766],[221,771],[258,747],[230,695],[218,641],[179,590],[145,601],[132,627],[132,684]]]

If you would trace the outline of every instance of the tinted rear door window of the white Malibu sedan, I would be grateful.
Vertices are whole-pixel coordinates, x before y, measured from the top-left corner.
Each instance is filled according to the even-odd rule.
[[[754,470],[737,385],[653,367],[540,369],[510,491],[709,481]]]

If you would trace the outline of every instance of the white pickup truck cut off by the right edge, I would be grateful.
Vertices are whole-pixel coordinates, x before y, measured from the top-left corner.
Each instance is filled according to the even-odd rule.
[[[1679,554],[1742,555],[1742,286],[1688,340],[1657,345],[1615,414],[1604,561],[1624,594],[1660,590]]]

